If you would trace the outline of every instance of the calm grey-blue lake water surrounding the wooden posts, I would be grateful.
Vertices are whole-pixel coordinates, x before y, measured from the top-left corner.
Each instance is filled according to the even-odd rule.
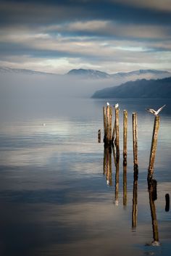
[[[105,102],[94,99],[56,102],[53,99],[47,104],[35,99],[31,104],[14,102],[9,107],[4,101],[0,110],[1,255],[170,254],[171,214],[165,211],[165,194],[171,195],[170,101],[113,100],[120,103],[117,175],[113,154],[112,172],[105,173],[104,146],[97,142],[97,131],[103,128]],[[153,241],[146,176],[154,116],[144,109],[157,109],[162,104],[167,107],[161,114],[154,170],[157,180],[154,205],[161,245],[154,247],[146,245]],[[123,187],[124,109],[128,110],[128,166],[127,186]],[[132,223],[132,112],[138,113],[135,227]]]

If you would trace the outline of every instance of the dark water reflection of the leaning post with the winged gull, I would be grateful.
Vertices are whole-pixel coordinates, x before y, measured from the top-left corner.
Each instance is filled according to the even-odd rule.
[[[149,204],[151,210],[151,221],[153,228],[153,241],[149,245],[159,246],[159,232],[157,224],[157,214],[154,201],[157,199],[157,181],[153,178],[148,179],[148,189],[149,189]]]

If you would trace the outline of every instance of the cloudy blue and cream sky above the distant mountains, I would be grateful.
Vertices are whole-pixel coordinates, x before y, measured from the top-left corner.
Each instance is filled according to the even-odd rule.
[[[171,71],[171,0],[0,0],[0,67]]]

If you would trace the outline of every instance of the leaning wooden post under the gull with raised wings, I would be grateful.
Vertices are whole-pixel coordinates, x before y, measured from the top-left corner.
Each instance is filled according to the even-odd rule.
[[[153,136],[151,141],[151,152],[149,159],[149,170],[148,170],[148,178],[151,178],[154,173],[154,160],[157,151],[157,136],[159,132],[159,115],[155,116],[154,119],[154,128],[153,128]]]

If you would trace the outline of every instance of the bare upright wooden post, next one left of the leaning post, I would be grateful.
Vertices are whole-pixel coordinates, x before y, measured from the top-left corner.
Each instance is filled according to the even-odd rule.
[[[138,131],[136,113],[133,113],[133,164],[134,168],[138,168]]]

